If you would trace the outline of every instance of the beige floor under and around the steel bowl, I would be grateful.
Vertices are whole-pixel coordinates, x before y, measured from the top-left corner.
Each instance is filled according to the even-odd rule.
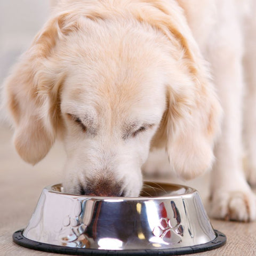
[[[43,187],[61,182],[65,154],[60,143],[38,165],[32,167],[19,158],[11,143],[11,131],[0,126],[0,255],[58,255],[33,251],[12,242],[12,233],[28,223]],[[190,182],[207,195],[209,177]],[[227,235],[220,249],[194,255],[256,255],[256,223],[211,220],[215,229]]]

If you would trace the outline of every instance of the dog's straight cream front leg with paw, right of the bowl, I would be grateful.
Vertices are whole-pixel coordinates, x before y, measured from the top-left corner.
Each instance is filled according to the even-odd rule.
[[[209,213],[214,218],[251,221],[256,219],[256,200],[242,166],[242,30],[232,1],[219,4],[208,57],[224,117],[215,147]]]

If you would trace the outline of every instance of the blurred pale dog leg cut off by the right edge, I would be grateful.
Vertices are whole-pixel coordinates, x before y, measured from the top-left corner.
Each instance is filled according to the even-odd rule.
[[[256,3],[246,17],[244,73],[246,91],[244,100],[245,171],[248,182],[256,186]]]

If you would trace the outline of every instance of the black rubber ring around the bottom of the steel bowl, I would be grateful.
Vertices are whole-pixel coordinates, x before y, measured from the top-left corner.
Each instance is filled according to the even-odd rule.
[[[214,230],[216,238],[206,244],[199,244],[188,247],[180,247],[175,249],[159,249],[159,250],[97,250],[97,249],[86,249],[86,248],[71,248],[59,245],[44,244],[32,241],[23,236],[23,229],[13,233],[12,238],[14,243],[27,247],[29,249],[44,251],[44,252],[55,252],[69,255],[181,255],[196,252],[205,252],[213,249],[217,249],[224,245],[227,241],[227,237],[218,230]]]

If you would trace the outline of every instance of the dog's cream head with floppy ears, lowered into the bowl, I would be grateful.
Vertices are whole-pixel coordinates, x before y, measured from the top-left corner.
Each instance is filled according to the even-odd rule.
[[[181,10],[99,5],[52,17],[7,79],[18,153],[36,164],[60,135],[69,193],[137,196],[150,147],[202,173],[220,106]]]

